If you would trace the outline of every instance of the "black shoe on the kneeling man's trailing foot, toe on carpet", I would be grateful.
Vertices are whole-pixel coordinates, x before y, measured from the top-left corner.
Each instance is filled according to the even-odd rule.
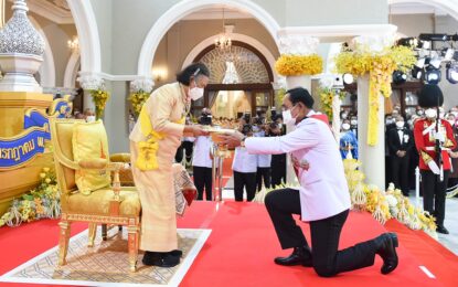
[[[383,259],[381,268],[382,274],[388,274],[396,269],[398,258],[396,247],[398,246],[397,235],[395,233],[384,233],[374,240],[376,254]]]

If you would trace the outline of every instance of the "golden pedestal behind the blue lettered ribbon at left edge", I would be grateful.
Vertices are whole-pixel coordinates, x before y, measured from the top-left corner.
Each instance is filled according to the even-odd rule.
[[[44,114],[51,107],[53,95],[26,92],[0,92],[0,139],[14,139],[24,135],[24,115],[30,108]],[[46,144],[47,146],[47,144]],[[0,155],[2,156],[2,155]],[[7,212],[11,201],[39,184],[44,167],[53,167],[53,156],[44,153],[17,167],[0,167],[0,215]]]

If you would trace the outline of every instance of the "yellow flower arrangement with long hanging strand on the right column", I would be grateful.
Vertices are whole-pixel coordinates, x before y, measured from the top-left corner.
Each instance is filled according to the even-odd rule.
[[[370,53],[356,46],[355,51],[343,51],[335,57],[337,72],[340,74],[362,76],[369,73],[368,145],[375,146],[379,141],[379,95],[390,97],[393,72],[406,72],[415,62],[413,50],[406,46],[387,47],[379,53]]]

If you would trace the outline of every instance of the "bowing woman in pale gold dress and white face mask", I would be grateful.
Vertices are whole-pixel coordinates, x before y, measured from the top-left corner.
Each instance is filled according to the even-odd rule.
[[[191,100],[203,96],[210,72],[195,63],[177,82],[156,89],[145,103],[130,134],[132,173],[142,215],[140,249],[143,264],[172,267],[180,263],[172,163],[183,134],[207,135],[201,126],[184,125]]]

